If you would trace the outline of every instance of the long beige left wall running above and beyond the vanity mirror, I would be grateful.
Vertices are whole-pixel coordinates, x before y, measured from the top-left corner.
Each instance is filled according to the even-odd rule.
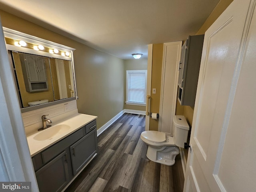
[[[78,112],[98,116],[100,128],[123,110],[124,60],[90,48],[32,22],[0,10],[2,25],[75,48]]]

